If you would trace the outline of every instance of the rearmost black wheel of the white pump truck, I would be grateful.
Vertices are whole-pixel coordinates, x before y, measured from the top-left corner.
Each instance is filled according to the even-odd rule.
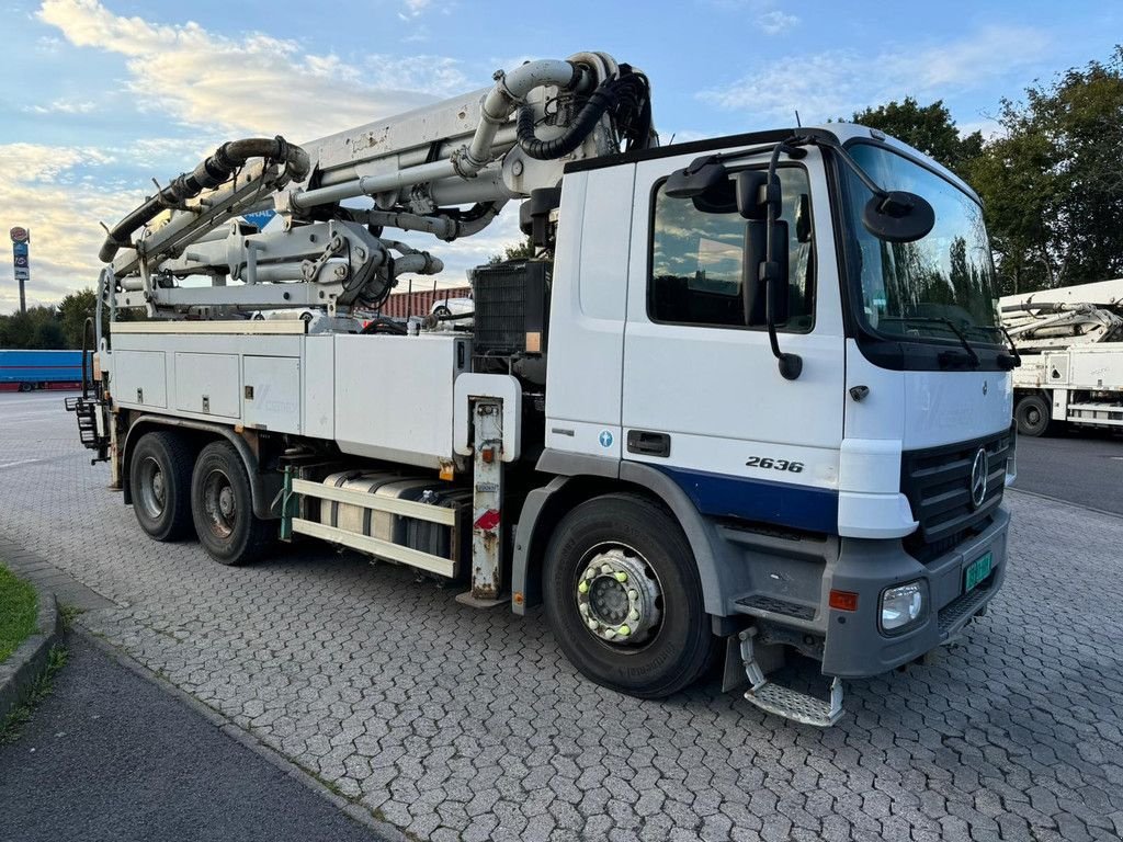
[[[191,534],[191,448],[174,432],[145,433],[133,450],[133,511],[157,541]]]

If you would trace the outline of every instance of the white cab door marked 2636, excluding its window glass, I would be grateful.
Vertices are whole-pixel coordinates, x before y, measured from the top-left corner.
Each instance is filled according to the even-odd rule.
[[[842,439],[842,324],[830,201],[819,153],[811,150],[804,161],[815,214],[815,324],[810,333],[779,333],[782,350],[803,357],[803,373],[795,381],[780,376],[765,330],[658,323],[648,314],[651,191],[661,177],[694,157],[647,161],[637,167],[624,432],[638,428],[669,433],[670,456],[661,464],[833,489]],[[710,447],[676,450],[686,433],[710,439]],[[768,442],[775,447],[761,447]],[[727,451],[727,446],[732,447]],[[806,476],[779,476],[746,466],[749,456],[785,459],[789,450],[806,454],[816,469]],[[724,456],[719,464],[705,458],[706,452]],[[626,458],[640,457],[629,454]]]

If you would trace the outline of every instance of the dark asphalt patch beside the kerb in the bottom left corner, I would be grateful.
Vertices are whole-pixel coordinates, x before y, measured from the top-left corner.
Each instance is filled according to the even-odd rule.
[[[67,647],[0,745],[0,841],[378,839],[81,635]]]

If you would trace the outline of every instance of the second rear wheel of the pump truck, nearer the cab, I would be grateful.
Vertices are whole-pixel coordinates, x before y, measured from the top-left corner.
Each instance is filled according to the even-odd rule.
[[[219,564],[246,565],[268,549],[274,524],[254,515],[249,477],[226,441],[202,449],[191,477],[191,515],[199,542]]]

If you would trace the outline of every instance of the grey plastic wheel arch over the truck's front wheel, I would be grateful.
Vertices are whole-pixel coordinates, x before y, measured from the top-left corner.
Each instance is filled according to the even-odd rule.
[[[722,575],[725,565],[720,562],[721,543],[690,497],[666,474],[642,463],[549,450],[539,459],[538,469],[555,476],[527,495],[519,515],[511,565],[514,613],[524,614],[541,602],[546,547],[566,513],[592,497],[627,492],[660,503],[670,512],[694,555],[706,612],[714,617],[729,614],[725,604],[730,587]]]

